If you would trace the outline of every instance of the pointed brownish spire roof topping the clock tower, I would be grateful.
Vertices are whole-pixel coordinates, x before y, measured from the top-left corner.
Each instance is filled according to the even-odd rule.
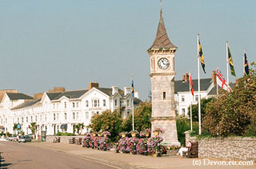
[[[177,46],[173,45],[166,33],[166,26],[162,18],[162,10],[160,10],[160,20],[158,24],[157,36],[154,39],[153,45],[150,49],[178,49]]]

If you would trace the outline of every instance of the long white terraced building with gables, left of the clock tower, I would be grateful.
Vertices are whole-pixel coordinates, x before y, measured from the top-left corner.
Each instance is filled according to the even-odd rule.
[[[21,124],[21,130],[30,134],[30,123],[37,125],[37,135],[46,131],[46,136],[55,135],[57,132],[72,132],[74,125],[90,124],[91,116],[101,114],[103,111],[122,109],[122,118],[126,118],[131,112],[131,88],[121,90],[117,86],[112,88],[99,88],[98,83],[90,83],[89,89],[67,91],[50,91],[42,93],[42,98],[34,100],[32,97],[18,98],[18,101],[10,100],[6,93],[0,106],[0,126],[6,132],[14,133],[14,124]],[[19,95],[21,93],[14,93]],[[39,94],[40,95],[40,94]],[[38,96],[38,95],[37,95]],[[34,96],[36,97],[36,95]],[[41,97],[41,96],[39,96]],[[14,104],[15,103],[15,104]],[[84,128],[82,133],[90,128]]]

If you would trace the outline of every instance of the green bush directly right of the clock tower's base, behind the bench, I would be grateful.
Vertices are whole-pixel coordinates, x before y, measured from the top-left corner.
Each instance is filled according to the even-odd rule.
[[[192,123],[193,133],[194,135],[198,134],[198,122]],[[186,144],[185,133],[190,130],[190,119],[186,116],[178,116],[176,119],[176,127],[177,127],[177,135],[178,141],[184,146]]]

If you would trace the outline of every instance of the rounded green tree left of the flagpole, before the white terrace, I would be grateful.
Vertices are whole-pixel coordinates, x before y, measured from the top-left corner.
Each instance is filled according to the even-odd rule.
[[[101,115],[95,114],[90,120],[89,128],[94,132],[108,131],[111,133],[110,139],[116,140],[116,136],[122,132],[122,116],[118,110],[111,112],[106,110]]]

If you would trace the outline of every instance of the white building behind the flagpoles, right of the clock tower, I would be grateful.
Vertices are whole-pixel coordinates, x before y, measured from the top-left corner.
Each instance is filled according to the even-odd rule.
[[[175,92],[174,92],[174,100],[175,100],[175,111],[178,115],[187,116],[190,112],[188,112],[188,108],[190,108],[190,104],[198,104],[198,79],[194,79],[193,88],[194,88],[194,96],[192,96],[190,92],[190,81],[187,75],[183,76],[182,81],[175,81]],[[217,95],[217,87],[214,86],[214,81],[211,78],[201,79],[200,80],[200,96],[202,98],[209,98]]]

